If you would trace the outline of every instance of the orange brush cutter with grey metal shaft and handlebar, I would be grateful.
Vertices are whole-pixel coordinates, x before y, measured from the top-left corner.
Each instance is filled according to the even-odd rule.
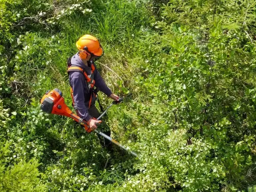
[[[122,102],[123,98],[120,98],[118,101],[113,101],[111,105],[108,106],[108,108],[96,119],[99,120],[102,118],[102,116],[107,113],[108,109],[112,105],[116,105],[120,102]],[[87,122],[81,117],[77,116],[74,114],[70,108],[67,107],[67,105],[64,102],[64,98],[62,97],[62,92],[61,90],[55,88],[54,90],[48,90],[43,98],[41,99],[41,110],[46,112],[46,113],[51,113],[51,114],[56,114],[56,115],[61,115],[61,116],[67,116],[75,120],[76,122],[80,123],[82,126],[84,126],[84,130],[87,132],[90,131],[95,131],[97,134],[100,134],[102,137],[105,137],[107,140],[110,140],[111,142],[115,143],[119,147],[123,148],[125,151],[130,152],[134,156],[137,157],[137,154],[133,151],[128,150],[128,148],[125,148],[125,146],[121,145],[118,143],[116,140],[113,138],[109,137],[108,135],[102,133],[101,131],[98,131],[96,129],[91,130]]]

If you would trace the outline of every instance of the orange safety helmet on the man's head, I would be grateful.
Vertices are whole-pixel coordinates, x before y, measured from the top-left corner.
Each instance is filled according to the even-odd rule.
[[[102,46],[99,44],[98,39],[93,37],[92,35],[83,35],[76,42],[76,47],[81,52],[86,51],[90,53],[90,55],[95,55],[96,57],[100,57],[104,54],[104,50]]]

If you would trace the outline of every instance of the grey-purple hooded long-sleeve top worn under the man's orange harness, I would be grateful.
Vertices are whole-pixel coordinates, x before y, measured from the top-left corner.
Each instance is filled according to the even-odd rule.
[[[87,73],[87,75],[90,77],[91,75],[91,62],[88,62],[88,66],[86,66],[81,58],[79,57],[78,53],[73,55],[71,58],[71,64],[81,67],[84,69]],[[97,87],[97,90],[102,91],[107,96],[110,96],[112,94],[111,90],[108,88],[108,86],[103,81],[102,77],[99,74],[99,71],[95,66],[95,70],[93,72],[95,84],[94,86]],[[69,73],[69,81],[70,85],[73,89],[73,97],[76,105],[76,109],[78,110],[79,114],[82,119],[89,121],[91,119],[90,114],[88,113],[88,107],[89,107],[89,101],[90,101],[90,92],[89,87],[87,84],[87,81],[84,77],[84,74],[77,72],[77,71],[71,71]],[[94,105],[96,101],[96,98],[93,94],[93,98],[91,101],[91,105]]]

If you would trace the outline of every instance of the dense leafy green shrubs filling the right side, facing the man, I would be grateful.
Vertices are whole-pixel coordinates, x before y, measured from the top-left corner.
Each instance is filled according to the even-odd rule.
[[[256,136],[255,2],[226,10],[231,2],[170,1],[154,24],[157,32],[146,33],[134,49],[131,62],[140,61],[141,71],[135,83],[161,115],[153,127],[138,130],[137,148],[145,154],[144,172],[153,172],[160,186],[191,192],[233,183],[230,190],[239,190],[250,177],[255,184],[244,173]],[[240,9],[247,10],[245,18]],[[235,25],[237,18],[244,20]]]

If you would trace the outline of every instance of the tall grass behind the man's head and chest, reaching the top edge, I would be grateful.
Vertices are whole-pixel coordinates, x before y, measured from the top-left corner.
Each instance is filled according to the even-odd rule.
[[[73,14],[61,27],[61,58],[55,64],[64,75],[66,59],[76,51],[75,42],[84,34],[96,36],[105,49],[105,55],[96,65],[104,74],[111,90],[116,91],[117,81],[124,81],[124,86],[131,86],[135,68],[128,67],[128,55],[134,39],[140,37],[141,26],[148,25],[147,12],[139,1],[129,0],[93,0],[90,17]],[[118,91],[118,90],[117,90]]]

